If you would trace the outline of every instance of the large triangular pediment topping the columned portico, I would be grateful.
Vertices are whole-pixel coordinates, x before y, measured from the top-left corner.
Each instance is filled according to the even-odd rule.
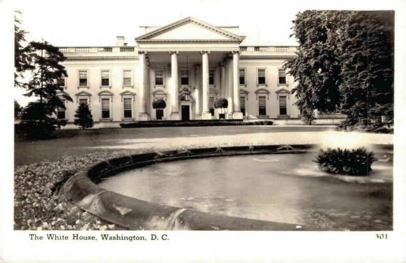
[[[244,38],[232,34],[222,28],[202,22],[193,17],[187,17],[175,23],[160,27],[136,38],[136,41],[162,40],[234,40],[243,41]]]

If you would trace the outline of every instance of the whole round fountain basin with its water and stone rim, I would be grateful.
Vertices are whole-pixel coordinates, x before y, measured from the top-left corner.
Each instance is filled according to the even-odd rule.
[[[89,179],[79,189],[91,190],[76,202],[69,199],[72,182],[64,188],[76,206],[130,229],[392,229],[392,153],[377,152],[370,175],[354,177],[320,172],[312,162],[314,149],[230,147],[133,155],[123,157],[127,165],[113,159],[101,173],[93,168],[79,174],[78,182]],[[217,157],[198,158],[208,156]],[[117,173],[128,168],[133,169]]]

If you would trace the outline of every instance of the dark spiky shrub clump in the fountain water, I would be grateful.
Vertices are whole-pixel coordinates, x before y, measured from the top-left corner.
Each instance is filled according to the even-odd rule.
[[[363,147],[351,151],[328,148],[326,151],[320,149],[314,162],[318,163],[320,171],[330,174],[368,175],[376,160],[375,153]]]

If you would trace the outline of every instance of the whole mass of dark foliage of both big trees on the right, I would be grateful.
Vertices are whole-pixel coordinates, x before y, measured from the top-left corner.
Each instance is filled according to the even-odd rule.
[[[347,115],[344,129],[393,122],[394,12],[311,10],[293,23],[299,47],[285,68],[304,121],[318,110]]]

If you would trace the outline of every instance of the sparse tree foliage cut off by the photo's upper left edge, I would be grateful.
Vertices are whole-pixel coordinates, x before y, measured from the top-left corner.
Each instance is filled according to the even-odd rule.
[[[33,70],[30,57],[30,46],[23,46],[25,34],[27,31],[20,28],[21,20],[18,16],[21,12],[16,10],[14,15],[14,86],[24,87],[24,83],[19,82],[18,78],[22,78],[22,74],[27,70]]]

